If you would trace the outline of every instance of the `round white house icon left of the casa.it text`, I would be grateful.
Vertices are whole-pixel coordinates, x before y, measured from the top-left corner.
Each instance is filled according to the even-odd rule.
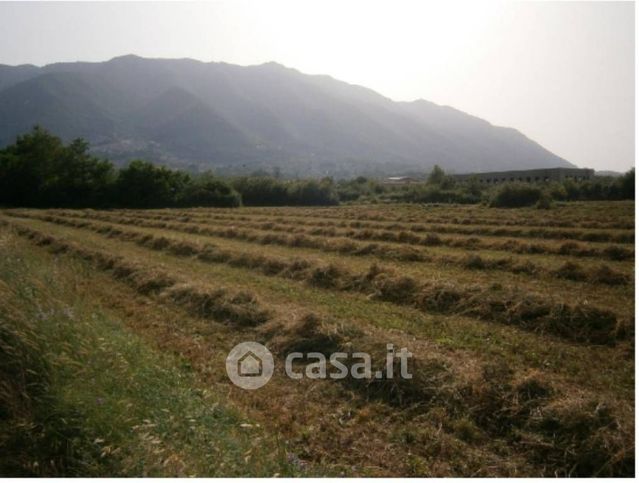
[[[257,342],[242,342],[226,357],[229,379],[243,389],[259,389],[271,379],[273,369],[273,355]]]

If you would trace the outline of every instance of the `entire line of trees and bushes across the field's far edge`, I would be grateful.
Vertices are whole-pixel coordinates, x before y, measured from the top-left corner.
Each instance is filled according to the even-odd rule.
[[[117,169],[89,154],[82,139],[69,144],[41,127],[0,150],[0,205],[60,208],[320,206],[340,202],[485,203],[497,207],[554,201],[634,199],[634,169],[619,178],[486,185],[457,181],[435,166],[422,183],[388,185],[358,177],[334,182],[272,176],[191,175],[142,160]]]

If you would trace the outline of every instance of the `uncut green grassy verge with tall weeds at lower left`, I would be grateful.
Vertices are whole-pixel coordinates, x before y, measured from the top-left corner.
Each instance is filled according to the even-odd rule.
[[[76,291],[78,262],[0,236],[2,476],[294,475],[284,448]]]

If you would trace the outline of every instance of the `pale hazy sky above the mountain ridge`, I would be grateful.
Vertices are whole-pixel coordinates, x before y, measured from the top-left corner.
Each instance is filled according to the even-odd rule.
[[[515,127],[579,166],[626,170],[634,18],[630,2],[0,3],[0,63],[274,60]]]

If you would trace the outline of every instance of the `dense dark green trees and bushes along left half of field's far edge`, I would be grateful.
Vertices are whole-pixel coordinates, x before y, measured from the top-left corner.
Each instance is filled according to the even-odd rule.
[[[191,175],[142,160],[116,169],[89,154],[78,139],[67,145],[41,127],[0,150],[0,205],[61,208],[330,205],[333,181],[268,177],[221,179]]]

